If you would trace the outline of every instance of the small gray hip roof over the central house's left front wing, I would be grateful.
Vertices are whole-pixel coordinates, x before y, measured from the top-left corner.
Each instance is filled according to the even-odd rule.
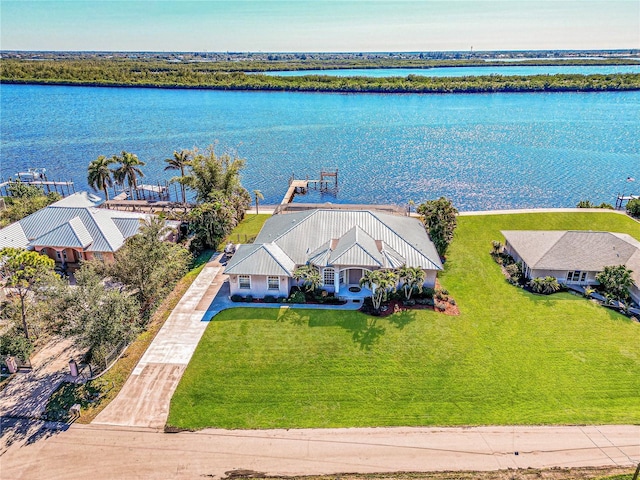
[[[290,277],[295,263],[273,243],[240,245],[224,272],[230,275],[284,275]]]

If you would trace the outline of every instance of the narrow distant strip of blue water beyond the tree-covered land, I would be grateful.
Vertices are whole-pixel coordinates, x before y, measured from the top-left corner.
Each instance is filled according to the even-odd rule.
[[[447,68],[355,68],[339,70],[297,70],[282,72],[264,72],[279,77],[298,77],[302,75],[328,75],[331,77],[406,77],[421,75],[425,77],[477,77],[480,75],[555,75],[557,73],[593,75],[611,73],[640,73],[637,65],[571,65],[571,66],[526,66],[506,65],[491,67],[447,67]]]

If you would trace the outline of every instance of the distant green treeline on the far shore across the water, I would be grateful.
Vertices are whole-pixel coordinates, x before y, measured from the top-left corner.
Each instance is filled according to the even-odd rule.
[[[562,61],[568,64],[582,64],[590,60]],[[428,61],[434,62],[434,61]],[[612,60],[616,62],[616,60]],[[248,62],[252,69],[255,62]],[[321,62],[324,67],[305,63],[305,68],[345,68],[335,62]],[[371,65],[373,63],[374,65]],[[437,66],[464,66],[468,61],[444,61]],[[477,65],[477,61],[472,61]],[[503,65],[504,62],[497,62]],[[547,64],[536,61],[535,64]],[[558,65],[558,61],[551,61]],[[610,63],[599,60],[597,64]],[[266,64],[259,64],[257,70],[268,70]],[[450,64],[450,65],[449,65]],[[480,62],[481,65],[491,65]],[[529,62],[518,62],[531,64]],[[586,64],[586,63],[585,63]],[[592,64],[592,63],[590,63]],[[203,88],[217,90],[280,90],[306,92],[374,92],[374,93],[478,93],[478,92],[541,92],[541,91],[606,91],[640,90],[640,74],[620,73],[607,75],[533,75],[533,76],[468,76],[468,77],[333,77],[323,75],[303,75],[277,77],[260,74],[246,74],[249,68],[240,68],[242,62],[173,63],[164,61],[140,61],[130,59],[96,60],[0,60],[1,81],[3,83],[28,83],[47,85],[83,86],[134,86],[155,88]],[[296,69],[295,62],[280,62],[281,69]],[[394,65],[398,66],[399,65]],[[401,65],[402,67],[416,65]],[[435,66],[435,65],[434,65]],[[390,68],[389,65],[368,62],[366,68]],[[364,65],[358,65],[364,68]],[[225,70],[226,69],[226,70]],[[273,68],[272,68],[273,69]],[[425,73],[427,73],[425,71]]]

